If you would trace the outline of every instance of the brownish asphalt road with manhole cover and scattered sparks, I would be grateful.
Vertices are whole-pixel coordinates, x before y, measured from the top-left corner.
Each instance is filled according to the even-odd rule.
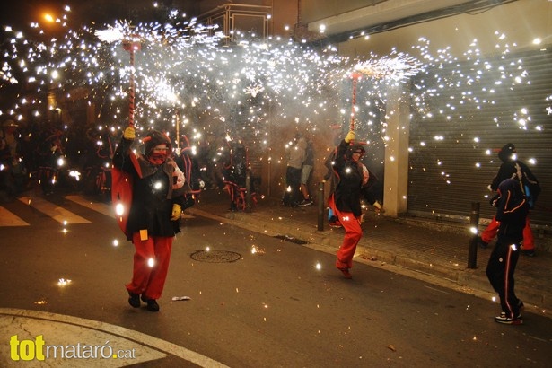
[[[202,217],[182,220],[161,311],[133,309],[124,288],[133,247],[110,207],[47,199],[49,209],[40,197],[2,205],[0,308],[100,321],[232,367],[545,367],[552,359],[546,317],[526,312],[524,325],[500,325],[495,302],[391,267],[357,263],[346,280],[334,254]],[[5,211],[27,224],[5,226]],[[73,215],[83,220],[63,223]],[[12,328],[0,326],[0,354]],[[137,351],[152,346],[133,341]],[[186,365],[168,353],[135,366]]]

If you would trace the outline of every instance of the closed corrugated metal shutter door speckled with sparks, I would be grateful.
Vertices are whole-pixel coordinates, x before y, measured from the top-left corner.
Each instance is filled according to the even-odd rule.
[[[552,53],[487,62],[435,67],[412,81],[414,99],[433,93],[411,121],[407,211],[465,220],[480,202],[481,217],[492,217],[486,187],[501,161],[488,152],[513,143],[542,188],[531,222],[552,225]]]

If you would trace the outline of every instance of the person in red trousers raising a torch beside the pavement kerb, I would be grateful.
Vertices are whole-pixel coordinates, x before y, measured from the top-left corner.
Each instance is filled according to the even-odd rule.
[[[369,171],[360,162],[366,152],[362,145],[349,145],[355,139],[355,131],[350,130],[337,146],[336,160],[333,162],[336,187],[330,188],[329,207],[345,229],[345,238],[337,250],[336,267],[346,278],[352,278],[349,269],[353,267],[356,245],[363,236],[361,228],[361,196],[376,209],[380,204],[368,190]]]

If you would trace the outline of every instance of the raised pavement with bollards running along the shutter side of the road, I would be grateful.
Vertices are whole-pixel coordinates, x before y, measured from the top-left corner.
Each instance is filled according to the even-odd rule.
[[[201,194],[196,206],[187,211],[335,253],[343,240],[344,230],[329,227],[327,208],[322,208],[323,213],[317,204],[286,207],[276,198],[262,197],[257,198],[256,204],[251,202],[246,211],[230,211],[230,200],[224,190],[208,190]],[[320,215],[323,215],[321,220]],[[320,224],[323,230],[319,230]],[[479,230],[485,226],[485,219],[481,219]],[[394,272],[426,282],[481,297],[497,297],[485,273],[494,243],[486,249],[478,248],[476,262],[473,255],[469,262],[469,242],[473,237],[469,223],[421,217],[395,219],[369,208],[364,215],[363,231],[355,262],[392,267]],[[526,311],[552,317],[552,239],[545,232],[535,231],[535,241],[537,256],[521,255],[518,261],[515,290],[525,303]],[[355,275],[355,267],[351,273]]]

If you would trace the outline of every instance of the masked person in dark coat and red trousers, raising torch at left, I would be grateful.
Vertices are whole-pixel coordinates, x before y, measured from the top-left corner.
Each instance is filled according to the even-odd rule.
[[[134,127],[127,127],[113,157],[113,173],[127,173],[132,185],[132,203],[125,233],[135,246],[132,281],[127,284],[128,303],[133,308],[140,300],[148,311],[159,311],[169,270],[172,241],[180,232],[181,208],[184,206],[184,174],[169,157],[171,140],[153,130],[143,139],[143,154],[131,151]],[[116,176],[113,177],[117,182]],[[114,193],[118,188],[113,188]]]

